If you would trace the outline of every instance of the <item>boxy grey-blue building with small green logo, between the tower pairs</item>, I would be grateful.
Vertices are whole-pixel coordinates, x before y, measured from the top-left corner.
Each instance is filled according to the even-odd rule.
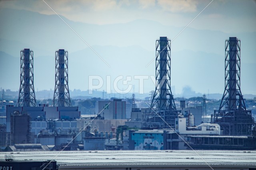
[[[104,119],[126,119],[126,102],[122,99],[97,101],[95,111],[96,113],[101,112]]]

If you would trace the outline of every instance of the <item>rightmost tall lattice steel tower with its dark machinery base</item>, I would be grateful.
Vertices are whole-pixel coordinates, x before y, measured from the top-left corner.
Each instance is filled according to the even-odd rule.
[[[229,37],[225,43],[225,90],[220,108],[211,115],[224,135],[251,135],[254,119],[246,110],[240,89],[240,40]]]

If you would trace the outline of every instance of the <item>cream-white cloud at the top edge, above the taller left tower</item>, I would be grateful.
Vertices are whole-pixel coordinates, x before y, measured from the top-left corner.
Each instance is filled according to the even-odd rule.
[[[197,4],[195,0],[158,0],[158,5],[170,12],[196,12]]]

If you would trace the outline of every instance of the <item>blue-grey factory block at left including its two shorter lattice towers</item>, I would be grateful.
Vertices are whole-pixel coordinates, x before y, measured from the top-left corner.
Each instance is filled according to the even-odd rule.
[[[76,136],[75,120],[80,118],[78,107],[72,107],[70,102],[68,52],[59,49],[55,53],[56,74],[52,107],[48,104],[36,103],[33,59],[33,51],[30,49],[20,51],[18,106],[6,106],[6,141],[10,140],[11,145],[22,143],[66,145]],[[1,135],[1,138],[3,137],[4,135]],[[3,139],[1,141],[4,143]]]

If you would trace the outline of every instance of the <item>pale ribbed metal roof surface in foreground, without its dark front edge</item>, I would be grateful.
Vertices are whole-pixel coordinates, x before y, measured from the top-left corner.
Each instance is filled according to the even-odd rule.
[[[0,160],[10,152],[1,152]],[[15,160],[56,160],[58,164],[253,164],[256,151],[240,150],[118,150],[14,152]]]

